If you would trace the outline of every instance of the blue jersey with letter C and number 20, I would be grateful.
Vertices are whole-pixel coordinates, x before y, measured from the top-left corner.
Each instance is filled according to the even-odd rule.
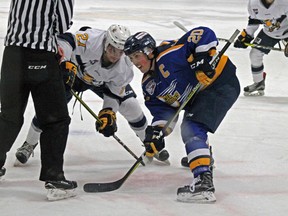
[[[211,29],[198,27],[177,41],[165,41],[157,47],[155,70],[146,73],[142,80],[145,105],[153,116],[152,125],[165,124],[197,85],[195,69],[191,67],[193,55],[215,51],[217,45],[218,40]],[[211,85],[216,84],[227,62],[231,63],[226,56],[221,58]]]

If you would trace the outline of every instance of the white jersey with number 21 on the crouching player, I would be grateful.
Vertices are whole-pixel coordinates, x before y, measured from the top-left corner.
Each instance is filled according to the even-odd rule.
[[[133,79],[133,66],[130,59],[122,55],[115,64],[102,67],[105,33],[99,29],[75,32],[75,49],[65,40],[59,39],[58,43],[64,51],[65,60],[77,64],[77,76],[83,82],[94,86],[105,84],[113,94],[124,97],[124,89]]]

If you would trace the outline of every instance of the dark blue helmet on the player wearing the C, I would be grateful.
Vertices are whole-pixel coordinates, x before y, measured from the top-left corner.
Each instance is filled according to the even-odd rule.
[[[148,55],[149,51],[146,48],[154,50],[155,47],[156,41],[150,34],[147,32],[137,32],[127,38],[124,44],[124,53],[125,55],[131,55],[134,52],[141,51]]]

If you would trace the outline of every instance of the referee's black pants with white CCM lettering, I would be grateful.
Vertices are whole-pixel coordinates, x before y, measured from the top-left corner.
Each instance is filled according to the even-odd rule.
[[[23,125],[30,92],[43,131],[40,180],[63,179],[70,117],[56,55],[47,51],[5,47],[0,81],[0,168]]]

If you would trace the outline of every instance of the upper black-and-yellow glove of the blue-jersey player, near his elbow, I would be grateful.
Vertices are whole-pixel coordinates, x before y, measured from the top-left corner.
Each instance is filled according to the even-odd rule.
[[[211,84],[215,75],[215,70],[211,67],[208,57],[210,57],[208,52],[196,53],[191,63],[191,68],[196,70],[196,78],[204,86]]]

